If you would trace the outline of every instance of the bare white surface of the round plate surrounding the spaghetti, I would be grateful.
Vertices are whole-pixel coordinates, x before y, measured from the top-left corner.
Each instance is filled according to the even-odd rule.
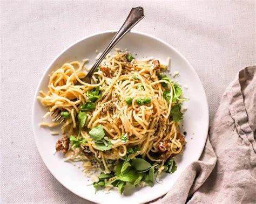
[[[174,81],[178,80],[181,85],[188,87],[188,89],[183,87],[184,95],[190,98],[189,101],[184,103],[184,106],[187,108],[183,122],[183,129],[187,132],[185,151],[183,156],[176,158],[178,163],[177,171],[173,174],[166,174],[163,178],[163,182],[160,184],[156,183],[153,187],[136,188],[133,191],[129,191],[126,195],[119,195],[116,190],[110,191],[109,194],[105,194],[103,191],[98,191],[95,194],[93,186],[87,186],[87,184],[91,184],[91,181],[84,176],[82,168],[73,166],[70,163],[65,163],[61,153],[56,153],[55,156],[53,156],[56,140],[60,136],[52,136],[48,128],[41,128],[39,126],[39,122],[41,122],[42,116],[45,114],[45,108],[36,99],[36,96],[39,94],[39,90],[47,89],[49,81],[48,75],[65,62],[74,60],[82,61],[85,58],[89,58],[90,64],[93,64],[97,55],[95,51],[98,50],[102,52],[107,43],[109,43],[114,36],[114,33],[114,31],[107,31],[79,40],[77,43],[66,48],[51,62],[37,87],[33,101],[33,133],[35,135],[38,151],[45,165],[49,168],[52,175],[73,193],[93,202],[117,203],[121,200],[122,203],[147,202],[164,195],[170,190],[184,169],[191,164],[192,161],[199,159],[207,138],[208,105],[204,88],[193,67],[183,55],[172,46],[160,39],[139,32],[126,34],[116,46],[122,50],[125,48],[129,49],[133,55],[137,54],[135,55],[137,59],[153,56],[165,62],[166,58],[170,57],[171,72],[178,71],[180,73],[180,76],[174,78]],[[113,53],[113,51],[111,52]]]

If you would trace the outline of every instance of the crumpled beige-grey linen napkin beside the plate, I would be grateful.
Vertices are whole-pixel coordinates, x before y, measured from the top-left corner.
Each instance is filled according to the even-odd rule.
[[[155,203],[256,203],[256,66],[227,87],[205,149]]]

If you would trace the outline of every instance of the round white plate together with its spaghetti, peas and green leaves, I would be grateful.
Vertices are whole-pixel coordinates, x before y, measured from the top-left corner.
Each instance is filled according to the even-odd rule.
[[[33,133],[45,165],[71,192],[99,203],[148,202],[199,159],[208,105],[183,55],[140,32],[127,33],[92,83],[83,82],[115,33],[79,40],[46,68]]]

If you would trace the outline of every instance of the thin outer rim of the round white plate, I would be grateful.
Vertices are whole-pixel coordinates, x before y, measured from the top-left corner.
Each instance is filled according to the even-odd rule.
[[[59,54],[56,55],[55,58],[53,58],[53,60],[50,62],[50,64],[47,66],[47,68],[45,69],[43,75],[41,76],[41,79],[39,80],[39,82],[37,83],[37,88],[36,88],[36,93],[33,97],[33,103],[32,103],[32,115],[31,115],[31,120],[32,120],[32,130],[33,130],[33,137],[35,139],[35,142],[36,142],[36,147],[37,147],[37,151],[39,152],[39,155],[41,157],[41,159],[43,160],[44,162],[44,165],[48,168],[48,170],[50,171],[50,173],[53,175],[53,177],[58,181],[60,182],[61,185],[63,185],[66,189],[68,189],[70,192],[72,192],[73,194],[75,195],[78,195],[80,198],[83,198],[85,200],[89,200],[91,202],[95,202],[95,200],[92,200],[91,198],[85,198],[82,194],[80,193],[75,193],[73,192],[68,185],[65,185],[63,184],[62,181],[60,181],[58,178],[55,177],[55,174],[52,173],[52,171],[50,170],[49,166],[46,164],[45,162],[45,159],[42,157],[42,154],[41,154],[41,151],[39,151],[39,141],[37,140],[37,137],[36,137],[36,130],[35,130],[35,105],[36,105],[36,101],[37,101],[37,96],[38,96],[38,93],[39,93],[39,87],[41,85],[41,83],[43,82],[45,76],[48,74],[49,72],[49,69],[50,67],[55,63],[55,61],[64,53],[66,52],[67,50],[69,50],[71,47],[75,46],[76,44],[80,43],[81,41],[83,40],[86,40],[86,39],[89,39],[91,37],[95,37],[95,36],[99,36],[99,35],[102,35],[102,34],[106,34],[106,33],[116,33],[118,30],[106,30],[106,31],[100,31],[100,32],[96,32],[96,33],[92,33],[88,36],[85,36],[83,38],[80,38],[79,40],[75,41],[75,43],[72,43],[71,45],[65,47]],[[181,54],[178,50],[176,50],[176,48],[174,48],[173,46],[171,46],[170,44],[166,43],[164,40],[161,40],[160,38],[158,37],[155,37],[155,36],[152,36],[151,34],[147,34],[147,33],[144,33],[144,32],[140,32],[140,31],[130,31],[129,33],[134,33],[134,34],[139,34],[141,36],[146,36],[146,37],[149,37],[149,38],[152,38],[154,40],[157,40],[159,41],[160,43],[166,45],[167,47],[171,48],[171,50],[173,52],[176,52],[185,62],[186,64],[191,68],[191,71],[196,75],[196,77],[198,78],[198,82],[200,84],[200,86],[203,88],[203,97],[204,97],[204,100],[206,101],[206,106],[207,106],[207,112],[205,112],[206,114],[206,118],[207,118],[207,121],[206,121],[206,124],[207,124],[207,128],[205,130],[205,133],[204,135],[206,135],[206,137],[204,137],[204,146],[201,147],[200,149],[200,153],[199,153],[199,156],[196,160],[199,160],[199,158],[201,157],[201,154],[203,153],[203,150],[204,150],[204,147],[205,147],[205,144],[206,144],[206,140],[208,138],[208,129],[209,129],[209,107],[208,107],[208,101],[207,101],[207,97],[206,97],[206,93],[205,93],[205,89],[204,89],[204,86],[203,86],[203,83],[201,82],[197,72],[195,71],[195,69],[193,68],[193,66],[190,64],[190,62],[183,56],[183,54]],[[193,162],[193,161],[192,161]],[[184,172],[184,171],[183,171]],[[181,174],[183,173],[181,172]],[[174,183],[175,184],[175,183]],[[170,190],[170,189],[169,189]],[[168,191],[167,191],[168,192]],[[157,196],[157,198],[154,198],[154,199],[158,199],[160,198],[161,196],[165,195],[167,192],[165,192],[164,194],[160,195],[160,196]],[[152,201],[154,199],[150,199],[150,200],[146,200],[144,202],[149,202],[149,201]]]

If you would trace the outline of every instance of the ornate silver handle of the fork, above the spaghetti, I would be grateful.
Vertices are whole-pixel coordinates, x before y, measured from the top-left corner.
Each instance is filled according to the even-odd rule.
[[[132,8],[128,17],[126,18],[124,24],[120,28],[120,30],[116,33],[113,39],[110,41],[109,45],[105,48],[102,55],[100,55],[99,59],[95,62],[92,66],[90,71],[87,73],[85,78],[92,78],[93,73],[95,72],[96,68],[99,66],[100,62],[106,57],[107,53],[111,51],[111,49],[118,43],[118,41],[125,36],[127,32],[129,32],[134,25],[136,25],[141,19],[144,18],[143,8],[138,6],[136,8]],[[85,79],[84,78],[84,79]]]

